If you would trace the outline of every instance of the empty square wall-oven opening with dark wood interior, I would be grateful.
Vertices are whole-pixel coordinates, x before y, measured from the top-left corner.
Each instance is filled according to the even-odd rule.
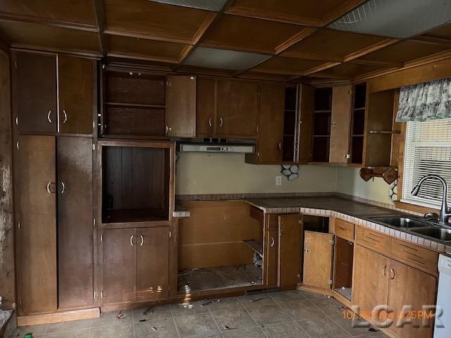
[[[101,142],[102,223],[170,219],[173,149],[171,142]]]

